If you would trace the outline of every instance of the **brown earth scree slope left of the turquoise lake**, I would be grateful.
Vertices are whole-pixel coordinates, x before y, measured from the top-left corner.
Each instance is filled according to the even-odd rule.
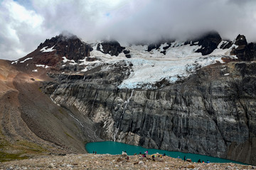
[[[0,162],[38,154],[85,153],[86,137],[75,115],[42,93],[45,75],[22,72],[0,60]]]

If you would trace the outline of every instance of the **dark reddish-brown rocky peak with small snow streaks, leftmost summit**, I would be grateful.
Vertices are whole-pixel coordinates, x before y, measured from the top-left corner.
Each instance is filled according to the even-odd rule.
[[[60,34],[38,45],[36,50],[17,60],[17,63],[21,67],[28,67],[28,64],[43,64],[58,69],[58,64],[63,61],[63,57],[78,62],[79,60],[90,58],[91,51],[92,47],[82,42],[77,36]]]

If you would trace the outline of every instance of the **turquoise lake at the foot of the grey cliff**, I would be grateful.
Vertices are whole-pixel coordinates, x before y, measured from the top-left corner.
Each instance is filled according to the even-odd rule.
[[[85,149],[88,153],[97,152],[97,154],[122,154],[122,151],[126,151],[128,155],[133,155],[134,153],[139,154],[139,152],[144,152],[147,150],[149,154],[166,154],[169,157],[178,158],[180,157],[183,159],[186,156],[186,159],[191,159],[193,162],[198,162],[198,159],[201,161],[206,162],[218,162],[218,163],[227,163],[233,162],[237,164],[242,164],[241,162],[235,162],[229,159],[220,159],[217,157],[208,157],[201,154],[188,154],[183,152],[170,152],[166,150],[159,150],[159,149],[146,149],[144,147],[138,147],[134,145],[127,145],[120,142],[112,142],[112,141],[105,141],[105,142],[90,142],[85,145]]]

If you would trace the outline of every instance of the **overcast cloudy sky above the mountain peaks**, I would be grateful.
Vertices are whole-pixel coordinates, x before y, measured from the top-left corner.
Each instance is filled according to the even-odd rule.
[[[0,0],[0,59],[16,60],[63,30],[84,41],[188,38],[217,30],[256,41],[256,0]]]

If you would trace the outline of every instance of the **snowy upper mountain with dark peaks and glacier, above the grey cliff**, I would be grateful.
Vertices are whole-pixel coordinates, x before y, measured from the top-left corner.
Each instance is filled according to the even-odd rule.
[[[99,65],[124,62],[130,66],[129,77],[118,85],[120,89],[154,89],[154,84],[181,81],[210,64],[251,60],[255,57],[254,47],[253,43],[247,45],[243,35],[227,41],[215,32],[186,42],[169,40],[125,47],[117,41],[87,44],[75,35],[58,35],[12,64],[28,67],[31,60],[36,67],[54,67],[63,70],[63,73],[83,73]],[[37,72],[36,67],[31,71]]]

